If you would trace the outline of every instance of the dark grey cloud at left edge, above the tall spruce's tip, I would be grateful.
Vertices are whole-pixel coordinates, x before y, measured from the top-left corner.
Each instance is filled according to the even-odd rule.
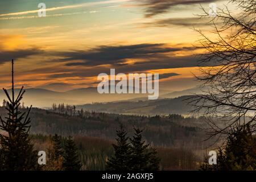
[[[15,51],[3,51],[0,50],[0,64],[5,63],[6,61],[10,61],[12,59],[19,59],[24,58],[32,55],[39,55],[43,53],[44,51],[37,49],[37,48],[31,48],[31,49],[18,49]]]

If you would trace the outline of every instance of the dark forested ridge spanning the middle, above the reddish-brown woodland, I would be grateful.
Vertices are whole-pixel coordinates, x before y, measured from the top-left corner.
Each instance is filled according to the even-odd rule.
[[[22,109],[26,110],[26,109]],[[0,107],[0,114],[3,117],[6,110]],[[202,142],[205,137],[203,131],[196,129],[196,125],[204,123],[204,118],[183,118],[181,115],[172,114],[166,117],[155,115],[154,117],[119,115],[95,112],[73,114],[56,113],[50,110],[31,110],[31,132],[40,134],[82,135],[89,137],[100,137],[114,139],[115,130],[119,123],[123,123],[128,131],[133,126],[144,129],[144,137],[156,146],[189,146],[204,148]]]

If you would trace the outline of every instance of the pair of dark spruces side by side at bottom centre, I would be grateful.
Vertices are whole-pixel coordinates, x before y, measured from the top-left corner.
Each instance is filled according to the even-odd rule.
[[[115,171],[156,171],[159,158],[155,148],[142,141],[142,130],[134,128],[132,139],[121,125],[117,130],[117,144],[113,144],[115,154],[108,160],[106,169]]]

